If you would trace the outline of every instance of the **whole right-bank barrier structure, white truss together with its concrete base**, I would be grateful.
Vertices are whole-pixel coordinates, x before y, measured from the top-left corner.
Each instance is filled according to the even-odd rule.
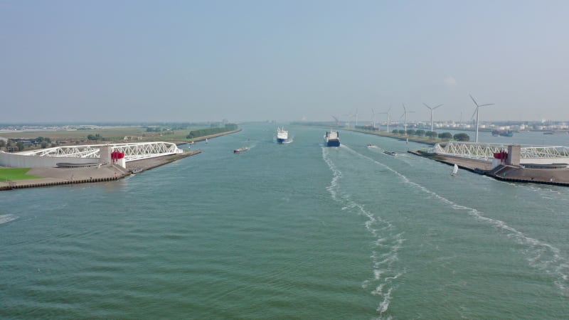
[[[442,142],[428,151],[410,152],[501,181],[569,186],[565,146]]]

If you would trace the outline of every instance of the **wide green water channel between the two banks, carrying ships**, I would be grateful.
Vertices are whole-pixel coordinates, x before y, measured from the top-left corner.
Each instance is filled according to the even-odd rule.
[[[242,127],[121,181],[1,192],[0,318],[568,318],[569,188]]]

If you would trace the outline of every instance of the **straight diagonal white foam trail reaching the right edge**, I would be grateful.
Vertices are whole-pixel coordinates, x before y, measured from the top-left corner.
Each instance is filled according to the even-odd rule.
[[[521,231],[516,230],[515,228],[512,228],[511,226],[507,225],[504,221],[488,218],[482,215],[482,213],[479,210],[476,210],[474,208],[469,208],[467,206],[461,206],[457,203],[454,203],[449,199],[440,196],[434,191],[431,191],[430,189],[427,189],[418,183],[410,181],[409,178],[407,178],[403,174],[400,174],[398,171],[395,171],[394,169],[390,168],[390,166],[382,164],[381,162],[376,161],[375,159],[371,159],[366,155],[360,154],[357,151],[354,151],[353,149],[349,148],[349,146],[346,146],[345,144],[344,148],[349,150],[353,154],[356,154],[358,156],[363,157],[364,159],[373,161],[373,163],[375,164],[383,166],[385,169],[388,169],[388,171],[391,171],[393,172],[393,174],[399,176],[404,183],[408,183],[411,186],[418,188],[420,191],[423,191],[428,195],[437,198],[439,201],[447,204],[451,208],[455,210],[464,210],[469,215],[476,218],[477,220],[487,223],[496,228],[496,230],[500,230],[506,233],[506,238],[513,240],[517,244],[525,245],[526,247],[528,247],[528,249],[524,250],[522,253],[523,255],[526,255],[526,260],[528,261],[528,264],[531,267],[535,267],[538,270],[546,272],[547,274],[554,274],[555,285],[561,290],[562,294],[565,297],[569,297],[569,283],[568,283],[569,260],[561,255],[561,252],[557,247],[554,247],[553,245],[550,245],[546,242],[542,242],[540,240],[528,237],[527,235],[524,235]]]

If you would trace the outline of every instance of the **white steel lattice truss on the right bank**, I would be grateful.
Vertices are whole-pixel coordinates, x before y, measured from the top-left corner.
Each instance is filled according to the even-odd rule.
[[[480,144],[475,142],[442,142],[433,152],[447,156],[492,161],[494,153],[507,151],[509,144]],[[521,146],[521,163],[569,163],[567,146]]]

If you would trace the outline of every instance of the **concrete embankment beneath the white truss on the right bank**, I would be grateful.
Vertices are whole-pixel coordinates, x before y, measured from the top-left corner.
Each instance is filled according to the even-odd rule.
[[[460,169],[472,171],[476,174],[489,176],[500,181],[518,183],[541,183],[554,186],[569,186],[569,169],[527,169],[521,166],[509,166],[501,164],[492,169],[489,161],[476,159],[466,159],[457,156],[442,156],[428,154],[425,151],[409,151],[411,154],[424,156],[426,158],[454,166],[457,164]]]

